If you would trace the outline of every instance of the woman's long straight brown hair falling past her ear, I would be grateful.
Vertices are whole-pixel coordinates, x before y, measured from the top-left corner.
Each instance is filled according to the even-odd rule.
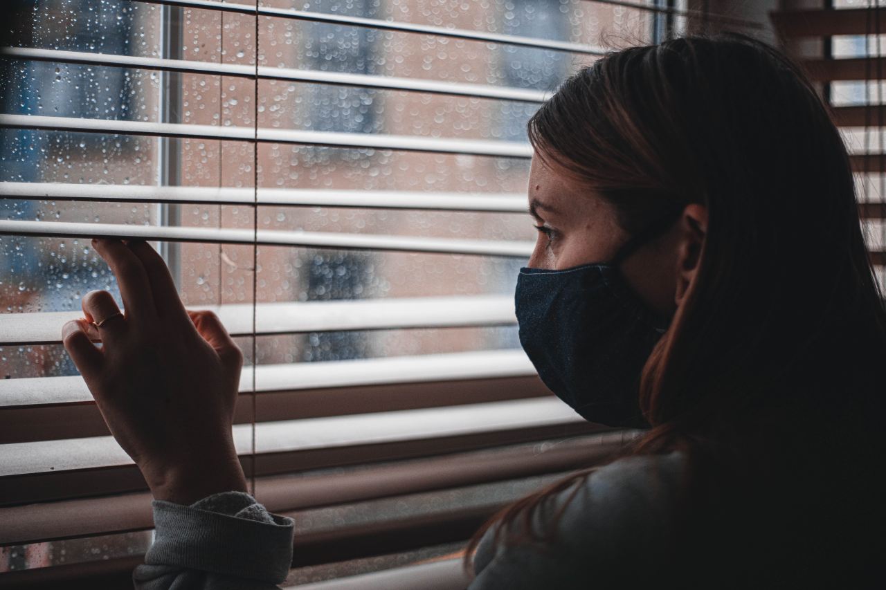
[[[528,130],[537,156],[610,202],[628,233],[707,208],[696,278],[641,374],[652,428],[626,452],[687,454],[686,534],[711,493],[765,504],[819,469],[862,477],[852,456],[876,439],[886,314],[843,139],[797,66],[735,34],[619,50],[563,82]],[[466,560],[518,516],[511,540],[539,540],[532,511],[588,474],[503,510]],[[759,477],[771,485],[747,481]],[[817,501],[837,493],[821,479]]]

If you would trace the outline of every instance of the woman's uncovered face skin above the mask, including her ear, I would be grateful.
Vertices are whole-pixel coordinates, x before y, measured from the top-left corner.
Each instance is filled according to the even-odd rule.
[[[608,262],[630,237],[618,226],[609,202],[538,156],[530,169],[529,207],[538,228],[531,268]],[[621,263],[633,291],[658,314],[673,314],[683,299],[695,275],[705,226],[703,206],[687,206],[672,229]]]

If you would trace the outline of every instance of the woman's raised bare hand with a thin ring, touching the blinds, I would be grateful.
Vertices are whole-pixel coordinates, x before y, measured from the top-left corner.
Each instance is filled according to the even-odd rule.
[[[89,291],[86,319],[67,322],[62,340],[114,439],[158,500],[245,491],[231,435],[240,349],[215,314],[183,307],[146,242],[92,245],[117,276],[126,314],[107,291]]]

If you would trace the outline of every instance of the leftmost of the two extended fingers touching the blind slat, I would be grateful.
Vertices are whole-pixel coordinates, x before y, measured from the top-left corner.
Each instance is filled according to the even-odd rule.
[[[94,238],[92,247],[117,277],[127,317],[136,322],[155,322],[157,310],[142,261],[120,240]]]

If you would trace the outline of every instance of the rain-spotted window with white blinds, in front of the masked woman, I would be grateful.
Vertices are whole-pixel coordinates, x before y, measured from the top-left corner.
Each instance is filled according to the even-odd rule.
[[[523,128],[602,32],[648,39],[664,12],[14,4],[27,35],[3,50],[0,568],[101,559],[128,574],[150,542],[144,484],[59,343],[86,291],[117,294],[93,235],[155,242],[186,305],[215,309],[245,351],[235,439],[271,509],[399,497],[396,516],[473,485],[506,501],[525,492],[508,480],[610,448],[518,348]],[[544,442],[563,437],[578,438]],[[348,492],[373,477],[384,491]]]

